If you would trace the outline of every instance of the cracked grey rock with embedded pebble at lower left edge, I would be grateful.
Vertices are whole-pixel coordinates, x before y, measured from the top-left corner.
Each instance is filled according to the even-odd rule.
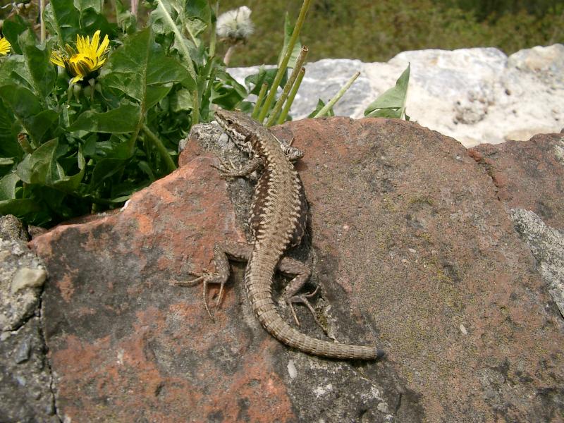
[[[0,422],[60,422],[39,320],[45,270],[18,219],[0,228]]]

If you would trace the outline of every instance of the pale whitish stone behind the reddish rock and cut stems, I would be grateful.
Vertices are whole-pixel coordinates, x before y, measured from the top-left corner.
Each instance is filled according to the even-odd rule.
[[[534,47],[505,56],[494,48],[404,51],[387,63],[324,59],[306,66],[293,103],[294,119],[327,102],[357,71],[360,77],[334,107],[360,118],[411,63],[407,114],[466,147],[528,140],[564,127],[564,45]],[[241,83],[258,67],[233,68]]]

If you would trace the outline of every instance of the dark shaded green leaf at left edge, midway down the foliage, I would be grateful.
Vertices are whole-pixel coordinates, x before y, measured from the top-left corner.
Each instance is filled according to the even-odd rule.
[[[16,117],[15,124],[23,129],[16,130],[29,134],[35,145],[46,140],[59,121],[56,111],[44,110],[35,94],[20,85],[0,86],[0,98]]]

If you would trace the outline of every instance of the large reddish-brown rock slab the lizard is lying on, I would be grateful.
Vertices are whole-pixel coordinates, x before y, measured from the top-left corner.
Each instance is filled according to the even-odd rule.
[[[381,346],[386,360],[281,345],[252,315],[242,264],[214,323],[200,286],[173,285],[213,266],[214,242],[245,239],[250,186],[221,180],[207,150],[238,152],[200,126],[184,166],[120,213],[32,241],[49,271],[42,307],[59,417],[561,421],[563,319],[484,167],[417,123],[334,118],[277,131],[306,152],[297,167],[311,231],[296,255],[314,263],[319,320],[338,341]],[[277,276],[276,292],[283,285]],[[303,331],[324,337],[298,314]]]

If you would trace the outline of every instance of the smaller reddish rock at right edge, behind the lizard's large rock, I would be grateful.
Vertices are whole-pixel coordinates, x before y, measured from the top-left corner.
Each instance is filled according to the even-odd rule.
[[[549,226],[564,229],[564,135],[482,144],[469,152],[491,176],[499,200],[510,208],[531,210]]]

